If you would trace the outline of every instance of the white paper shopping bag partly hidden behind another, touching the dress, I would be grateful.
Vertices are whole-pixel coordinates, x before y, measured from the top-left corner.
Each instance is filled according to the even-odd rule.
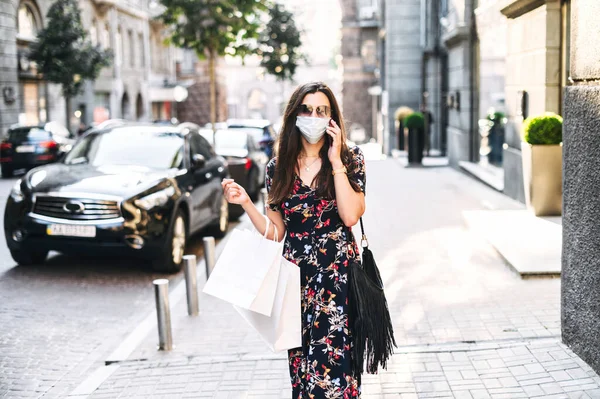
[[[260,334],[272,351],[302,346],[300,268],[281,257],[281,272],[270,317],[238,306],[235,309]]]

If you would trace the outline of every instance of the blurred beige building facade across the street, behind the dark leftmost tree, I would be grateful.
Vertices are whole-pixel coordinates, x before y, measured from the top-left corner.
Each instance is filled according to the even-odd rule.
[[[164,44],[164,27],[152,17],[151,0],[80,0],[81,18],[94,45],[112,50],[113,63],[95,82],[86,82],[66,121],[60,86],[43,80],[27,51],[46,24],[51,0],[0,3],[0,129],[15,123],[58,121],[75,130],[79,123],[109,118],[170,119],[176,116],[176,63],[182,52]]]

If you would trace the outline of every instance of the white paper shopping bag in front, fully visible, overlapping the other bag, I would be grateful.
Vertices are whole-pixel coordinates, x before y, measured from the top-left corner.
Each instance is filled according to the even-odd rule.
[[[270,316],[282,251],[282,242],[246,230],[233,230],[203,292]]]

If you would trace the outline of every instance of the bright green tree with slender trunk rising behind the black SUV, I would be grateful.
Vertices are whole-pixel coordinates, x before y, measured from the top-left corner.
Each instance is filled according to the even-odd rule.
[[[217,98],[215,61],[229,55],[245,56],[258,37],[259,14],[267,0],[160,0],[165,7],[159,21],[171,27],[169,42],[191,49],[208,59],[210,77],[210,121],[216,125]]]

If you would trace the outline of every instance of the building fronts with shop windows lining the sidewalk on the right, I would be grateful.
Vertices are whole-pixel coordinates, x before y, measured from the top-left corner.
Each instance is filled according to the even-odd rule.
[[[524,202],[521,126],[531,115],[561,113],[570,73],[570,4],[387,2],[389,113],[401,105],[431,112],[432,148],[447,155],[451,166]],[[396,78],[400,74],[404,81]],[[486,118],[496,112],[505,126],[490,132]],[[392,137],[390,148],[397,148],[394,144]]]

